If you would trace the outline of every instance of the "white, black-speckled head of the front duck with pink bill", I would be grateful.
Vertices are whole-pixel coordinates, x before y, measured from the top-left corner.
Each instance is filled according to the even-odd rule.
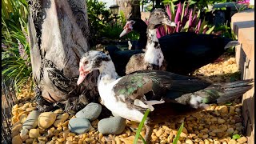
[[[110,62],[111,58],[101,51],[90,50],[82,55],[79,62],[79,78],[77,84],[79,85],[84,81],[87,74],[94,70],[102,70],[103,62]]]

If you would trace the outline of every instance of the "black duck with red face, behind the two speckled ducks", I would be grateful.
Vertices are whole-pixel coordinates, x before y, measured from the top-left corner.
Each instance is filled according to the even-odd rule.
[[[157,17],[156,15],[150,16]],[[157,20],[159,23],[161,22],[161,19]],[[149,23],[151,21],[152,18],[149,19]],[[155,26],[159,26],[159,24]],[[126,26],[124,26],[124,30],[120,36],[122,37],[126,34],[129,34],[131,31],[146,31],[146,29],[146,22],[144,22],[142,19],[130,18],[126,22]],[[140,32],[140,36],[143,34],[146,35],[145,32]],[[232,40],[230,38],[224,38],[220,35],[195,34],[194,32],[167,34],[166,36],[158,38],[158,42],[160,44],[164,59],[167,63],[166,70],[174,72],[175,74],[182,75],[192,74],[194,70],[214,62],[222,54],[224,54],[228,48],[232,46],[238,46],[240,44],[238,41]],[[126,59],[129,59],[129,57],[133,56],[134,54],[145,53],[145,49],[146,45],[142,46],[140,49],[135,50],[136,53],[134,53],[134,50],[119,50],[117,46],[106,47],[106,50],[109,51],[110,57],[113,58],[114,65],[116,66],[119,75],[125,75],[123,72],[125,71],[124,67],[129,62],[122,59],[124,55],[127,55]],[[137,67],[134,67],[133,65],[138,62],[136,60],[138,58],[134,59],[135,60],[133,64],[131,64],[130,69],[128,66],[126,74],[130,74],[131,72],[137,70]],[[122,73],[119,71],[122,71]]]

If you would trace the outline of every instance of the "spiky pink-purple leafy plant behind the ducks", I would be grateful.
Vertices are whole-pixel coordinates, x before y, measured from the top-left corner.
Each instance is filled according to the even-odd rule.
[[[210,34],[214,30],[214,26],[209,28],[205,20],[200,19],[200,10],[189,8],[189,4],[184,2],[178,3],[177,6],[173,2],[166,5],[166,12],[170,20],[176,23],[176,27],[161,26],[157,30],[157,37],[161,38],[166,34],[178,32],[195,32],[197,34]]]

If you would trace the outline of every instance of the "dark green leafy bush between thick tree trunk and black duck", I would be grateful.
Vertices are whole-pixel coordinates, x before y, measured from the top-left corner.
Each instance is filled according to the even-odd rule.
[[[106,2],[98,2],[98,0],[88,0],[87,11],[90,26],[90,46],[101,43],[102,38],[120,39],[119,34],[126,24],[126,18],[122,11],[115,20],[110,9],[106,7]],[[127,34],[121,39],[125,38],[138,39],[138,34]]]

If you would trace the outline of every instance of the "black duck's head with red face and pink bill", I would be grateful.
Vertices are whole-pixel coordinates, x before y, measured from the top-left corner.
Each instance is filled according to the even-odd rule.
[[[144,22],[140,18],[130,18],[126,22],[126,26],[123,27],[122,33],[119,35],[119,37],[123,37],[126,34],[129,34],[131,31],[135,31],[137,33],[146,33],[146,22]]]

